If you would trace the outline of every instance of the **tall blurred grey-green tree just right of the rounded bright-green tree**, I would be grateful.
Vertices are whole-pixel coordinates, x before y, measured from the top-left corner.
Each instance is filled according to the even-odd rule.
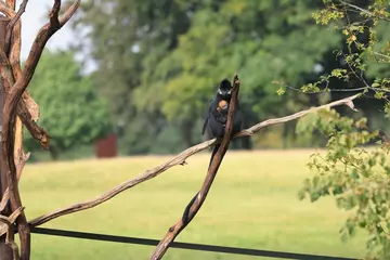
[[[192,5],[191,1],[152,0],[84,1],[82,5],[76,28],[90,28],[91,44],[79,48],[90,50],[99,64],[96,82],[109,100],[114,120],[122,126],[120,143],[127,154],[161,146],[153,142],[167,127],[161,113],[139,109],[133,90],[140,86],[143,68],[153,70],[156,61],[176,47],[178,35],[188,26],[185,13]],[[155,103],[150,100],[158,98],[147,90],[143,93],[151,106]]]

